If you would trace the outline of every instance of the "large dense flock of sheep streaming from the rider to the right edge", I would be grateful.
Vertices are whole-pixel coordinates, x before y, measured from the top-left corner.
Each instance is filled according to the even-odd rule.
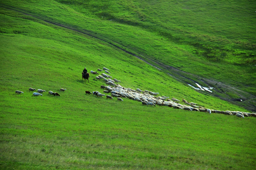
[[[103,68],[106,73],[110,74],[108,68]],[[98,71],[103,71],[98,68]],[[226,114],[226,115],[236,115],[239,118],[244,117],[256,117],[256,113],[249,113],[249,112],[242,112],[242,111],[220,111],[220,110],[212,110],[208,108],[204,108],[202,106],[199,106],[197,103],[194,102],[188,102],[185,99],[182,100],[184,104],[181,104],[181,102],[178,99],[175,99],[174,97],[170,99],[166,96],[157,96],[159,93],[151,92],[148,90],[140,90],[137,88],[136,90],[131,88],[125,88],[122,87],[119,84],[116,84],[117,82],[120,82],[120,80],[117,79],[111,79],[112,76],[107,75],[105,73],[102,73],[99,75],[99,73],[95,71],[91,71],[92,74],[97,74],[96,79],[103,79],[103,81],[107,84],[101,85],[101,89],[103,89],[103,93],[110,93],[110,95],[102,94],[98,91],[89,92],[85,91],[85,94],[93,94],[98,97],[106,96],[106,99],[113,99],[113,97],[116,97],[118,101],[123,101],[124,98],[131,99],[137,102],[141,102],[142,105],[150,105],[150,106],[168,106],[173,107],[174,109],[183,109],[183,110],[189,110],[189,111],[201,111],[201,112],[208,112],[208,113],[220,113],[220,114]]]

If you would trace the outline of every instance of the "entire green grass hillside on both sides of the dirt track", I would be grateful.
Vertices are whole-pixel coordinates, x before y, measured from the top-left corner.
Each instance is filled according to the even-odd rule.
[[[104,85],[94,75],[90,83],[83,82],[84,66],[88,71],[106,67],[124,87],[184,98],[210,109],[249,111],[198,93],[165,69],[120,50],[255,95],[255,13],[247,11],[255,6],[253,1],[231,1],[228,11],[228,2],[196,2],[0,2],[0,169],[253,170],[255,118],[147,107],[84,93],[103,92]],[[209,13],[215,13],[210,17],[212,4]],[[163,10],[167,7],[173,8]],[[231,22],[234,9],[241,12]],[[223,19],[218,19],[220,14]],[[226,57],[209,57],[215,53]],[[46,93],[33,97],[29,87]],[[60,97],[48,95],[49,90]],[[255,103],[255,98],[248,100]]]

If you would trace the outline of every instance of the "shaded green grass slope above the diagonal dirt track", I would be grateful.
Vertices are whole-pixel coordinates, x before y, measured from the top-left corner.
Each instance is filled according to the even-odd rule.
[[[194,4],[199,4],[196,0],[182,3],[165,0],[129,3],[18,0],[13,3],[6,0],[2,3],[5,8],[11,6],[85,31],[151,64],[165,63],[168,67],[157,67],[183,84],[197,82],[213,86],[215,93],[212,95],[255,110],[256,51],[255,40],[251,37],[255,35],[256,19],[255,12],[250,10],[253,1],[247,4],[205,1],[200,2],[199,11],[193,9]],[[240,6],[243,8],[239,8],[238,15],[234,9]],[[190,23],[189,26],[185,22]],[[236,102],[237,99],[244,102]]]

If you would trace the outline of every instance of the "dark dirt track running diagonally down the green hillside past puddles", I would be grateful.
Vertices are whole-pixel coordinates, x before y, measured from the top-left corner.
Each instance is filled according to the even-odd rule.
[[[10,10],[14,10],[16,12],[22,13],[24,15],[30,16],[30,17],[34,17],[40,20],[45,21],[46,23],[49,24],[53,24],[55,26],[60,26],[81,34],[86,34],[88,36],[94,37],[98,40],[101,40],[103,42],[106,42],[108,44],[110,44],[111,46],[118,48],[121,51],[124,51],[134,57],[137,57],[138,59],[146,62],[147,64],[162,70],[163,72],[165,72],[167,75],[172,76],[173,78],[175,78],[176,80],[182,82],[183,84],[187,85],[190,82],[193,83],[198,83],[198,84],[205,84],[207,86],[211,86],[214,87],[214,92],[213,93],[208,93],[210,95],[213,95],[215,97],[218,97],[222,100],[231,102],[233,104],[236,104],[238,106],[244,107],[247,110],[251,110],[251,111],[256,111],[256,106],[255,106],[255,102],[256,102],[256,96],[250,93],[247,93],[245,91],[239,90],[238,88],[225,84],[223,82],[218,82],[216,80],[213,79],[209,79],[209,78],[204,78],[201,76],[197,76],[185,71],[182,71],[178,68],[174,68],[172,66],[168,66],[165,65],[162,62],[156,61],[148,56],[143,56],[143,55],[138,55],[136,54],[136,52],[134,52],[131,49],[128,49],[127,47],[124,47],[123,45],[119,44],[118,42],[113,42],[110,41],[108,38],[100,36],[95,34],[94,32],[90,31],[90,30],[86,30],[86,29],[77,29],[76,26],[71,26],[71,25],[67,25],[67,24],[61,24],[58,23],[56,21],[51,20],[50,18],[47,17],[42,17],[42,16],[37,16],[35,14],[31,14],[27,11],[24,11],[23,9],[20,8],[15,8],[15,7],[11,7],[11,6],[6,6],[6,5],[0,5],[0,7],[2,8],[7,8]],[[123,47],[123,48],[122,48]],[[126,48],[126,50],[124,50],[124,48]],[[226,92],[232,92],[235,93],[239,96],[239,99],[242,99],[243,102],[238,102],[238,99],[233,99],[231,98]],[[202,92],[202,91],[198,91],[200,93],[207,93],[207,92]]]

